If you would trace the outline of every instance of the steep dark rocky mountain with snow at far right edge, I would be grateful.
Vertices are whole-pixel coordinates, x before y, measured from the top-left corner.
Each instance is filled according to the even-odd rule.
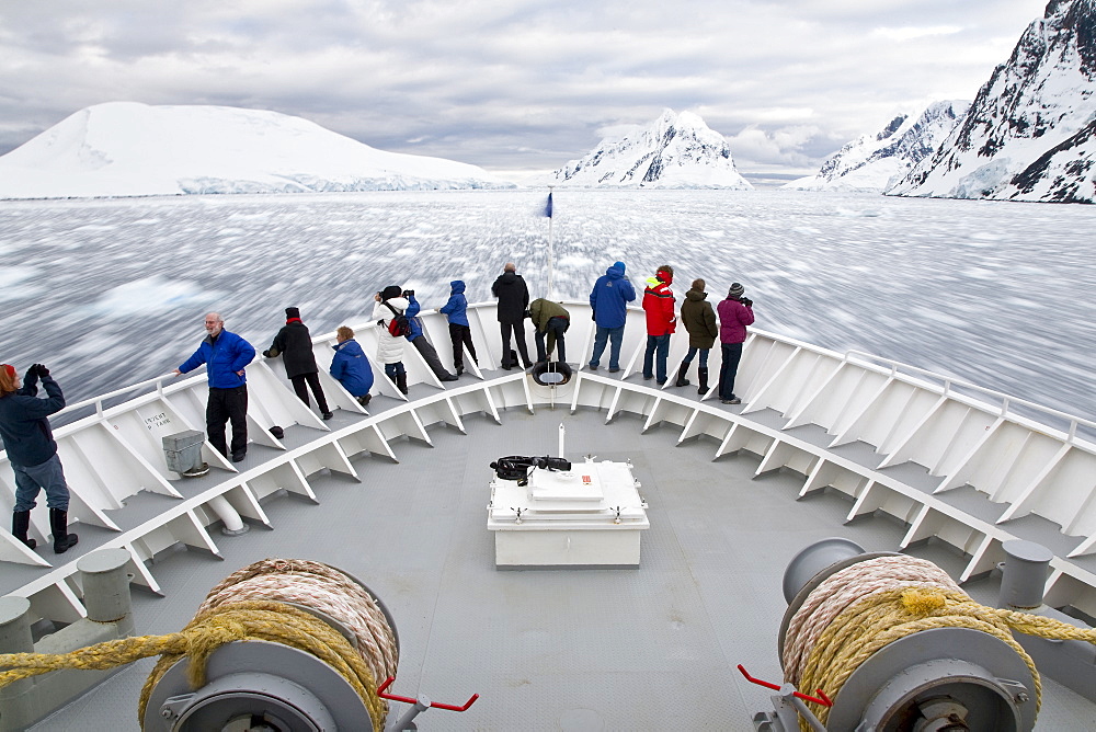
[[[1096,2],[1051,0],[934,156],[888,194],[1096,201]]]

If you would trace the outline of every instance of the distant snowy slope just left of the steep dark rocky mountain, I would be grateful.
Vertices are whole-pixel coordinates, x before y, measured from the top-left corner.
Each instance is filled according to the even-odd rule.
[[[825,159],[814,175],[781,187],[804,191],[886,191],[933,155],[970,102],[934,102],[920,116],[894,117],[880,133],[861,135]]]

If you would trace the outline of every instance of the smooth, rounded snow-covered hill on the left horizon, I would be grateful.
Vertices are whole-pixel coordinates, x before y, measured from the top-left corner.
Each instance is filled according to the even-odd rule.
[[[276,112],[96,104],[0,157],[0,198],[514,187]]]

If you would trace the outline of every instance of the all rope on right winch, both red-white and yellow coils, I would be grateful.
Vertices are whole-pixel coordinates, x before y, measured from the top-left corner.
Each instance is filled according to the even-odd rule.
[[[1011,647],[1031,672],[1037,711],[1042,682],[1031,656],[1011,630],[1096,643],[1096,630],[986,607],[936,564],[915,557],[887,556],[835,572],[808,595],[785,636],[785,680],[807,693],[822,689],[836,697],[853,672],[878,650],[933,628],[970,628]],[[825,724],[830,709],[813,702],[810,706]],[[800,720],[800,727],[809,730],[806,720]]]

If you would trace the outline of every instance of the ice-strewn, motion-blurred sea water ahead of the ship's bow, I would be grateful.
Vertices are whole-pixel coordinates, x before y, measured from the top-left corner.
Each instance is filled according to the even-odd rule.
[[[69,401],[163,375],[203,314],[262,350],[367,321],[386,285],[585,300],[614,261],[732,282],[756,327],[866,351],[1096,418],[1096,206],[783,191],[384,192],[0,202],[0,361],[42,362]],[[681,338],[681,336],[678,336]]]

